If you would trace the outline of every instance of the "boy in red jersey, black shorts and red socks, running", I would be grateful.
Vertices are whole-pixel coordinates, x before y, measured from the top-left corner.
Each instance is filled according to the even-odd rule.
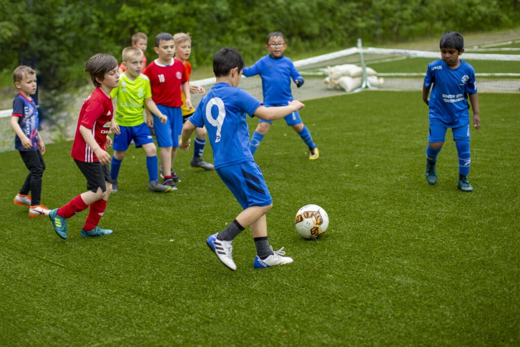
[[[85,72],[90,74],[96,88],[81,108],[71,157],[87,179],[88,190],[61,208],[49,212],[54,230],[62,239],[67,238],[67,219],[87,207],[90,208],[81,236],[112,234],[112,230],[101,229],[98,224],[112,191],[108,166],[111,156],[105,150],[105,145],[112,145],[112,139],[107,134],[114,113],[110,92],[119,85],[118,61],[108,54],[96,54],[86,62]]]

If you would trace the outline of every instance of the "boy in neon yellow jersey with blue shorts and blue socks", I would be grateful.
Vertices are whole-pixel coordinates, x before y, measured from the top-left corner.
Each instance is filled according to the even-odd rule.
[[[119,191],[118,175],[121,162],[125,157],[128,146],[134,140],[136,147],[142,147],[146,153],[146,168],[148,170],[148,190],[168,192],[171,186],[159,183],[157,148],[153,143],[150,130],[142,118],[142,108],[146,107],[158,115],[161,123],[166,123],[166,116],[159,111],[152,100],[150,80],[142,74],[143,54],[137,47],[123,49],[123,66],[125,72],[119,76],[119,86],[112,89],[110,96],[114,102],[114,118],[110,131],[114,133],[114,155],[110,166],[112,178],[112,192]]]

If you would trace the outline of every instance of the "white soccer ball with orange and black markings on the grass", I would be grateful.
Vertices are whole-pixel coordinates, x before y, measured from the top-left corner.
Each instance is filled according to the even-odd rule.
[[[327,230],[329,215],[318,205],[305,205],[296,213],[294,226],[304,239],[315,239]]]

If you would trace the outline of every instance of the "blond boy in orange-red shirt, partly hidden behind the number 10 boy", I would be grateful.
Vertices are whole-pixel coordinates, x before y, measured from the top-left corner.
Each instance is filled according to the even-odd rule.
[[[175,42],[175,58],[183,62],[186,74],[188,75],[188,81],[190,80],[191,64],[188,58],[191,54],[191,37],[189,33],[176,33],[173,35],[173,41]],[[191,94],[202,93],[206,94],[204,87],[190,84]],[[184,100],[186,97],[184,93],[181,93],[181,98]],[[180,108],[183,111],[183,123],[195,112],[193,107],[188,108],[186,105]],[[206,144],[206,128],[198,127],[195,129],[195,141],[193,144],[193,158],[190,164],[193,168],[202,168],[204,170],[213,170],[213,164],[208,163],[202,159],[202,153],[204,152],[204,145]]]

